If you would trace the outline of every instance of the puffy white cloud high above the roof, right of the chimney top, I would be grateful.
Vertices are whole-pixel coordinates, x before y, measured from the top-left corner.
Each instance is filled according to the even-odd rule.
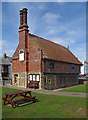
[[[48,23],[48,24],[52,24],[57,22],[58,19],[60,19],[62,16],[60,14],[53,14],[50,12],[47,12],[43,15],[43,20]]]

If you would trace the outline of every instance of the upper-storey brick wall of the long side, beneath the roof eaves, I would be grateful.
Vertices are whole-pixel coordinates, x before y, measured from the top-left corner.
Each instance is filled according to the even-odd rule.
[[[49,60],[44,60],[44,68],[43,72],[48,72],[48,73],[63,73],[63,72],[80,72],[80,66],[76,65],[75,69],[72,69],[72,65],[70,63],[65,63],[65,62],[58,62],[54,61],[54,68],[49,68]]]

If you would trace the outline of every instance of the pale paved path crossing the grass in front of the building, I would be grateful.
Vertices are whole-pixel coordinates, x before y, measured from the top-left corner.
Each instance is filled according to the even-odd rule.
[[[19,90],[31,90],[37,93],[43,93],[43,94],[53,94],[53,95],[59,95],[59,96],[74,96],[74,97],[88,97],[88,93],[78,93],[78,92],[61,92],[60,90],[45,90],[45,89],[29,89],[29,88],[22,88],[17,86],[11,86],[11,85],[4,85],[4,87],[9,88],[15,88]]]

